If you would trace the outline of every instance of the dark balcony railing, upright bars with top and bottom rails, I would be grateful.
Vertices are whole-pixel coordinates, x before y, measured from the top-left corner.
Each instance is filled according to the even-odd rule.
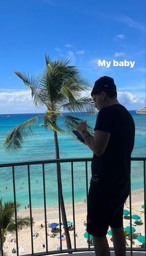
[[[88,247],[86,248],[77,248],[77,240],[75,237],[75,202],[74,202],[74,162],[84,162],[85,163],[85,179],[86,179],[86,194],[87,194],[87,200],[88,200],[88,161],[91,161],[92,159],[88,158],[79,158],[79,159],[52,159],[52,160],[45,160],[45,161],[32,161],[27,163],[12,163],[12,164],[0,164],[0,168],[11,166],[12,168],[12,178],[13,178],[13,194],[14,194],[14,211],[15,211],[15,235],[16,235],[16,247],[17,247],[17,256],[19,256],[19,235],[18,235],[18,221],[17,221],[17,190],[15,187],[15,166],[27,166],[28,169],[28,196],[29,196],[29,204],[30,204],[30,231],[31,231],[31,240],[32,240],[32,252],[27,255],[50,255],[52,254],[59,254],[59,253],[69,253],[69,252],[88,252],[92,251],[93,249],[90,248],[90,238],[88,237]],[[144,205],[146,206],[146,170],[145,170],[145,161],[146,158],[131,158],[131,161],[142,161],[144,163]],[[46,184],[45,184],[45,164],[54,163],[57,166],[60,163],[71,163],[71,176],[72,176],[72,213],[73,213],[73,221],[74,221],[74,249],[71,250],[62,250],[62,240],[60,238],[61,243],[61,250],[55,250],[48,252],[48,237],[47,237],[47,212],[46,212]],[[46,237],[46,252],[34,252],[33,250],[33,225],[32,225],[32,198],[31,198],[31,186],[30,186],[30,164],[42,164],[43,166],[43,196],[44,196],[44,211],[45,211],[45,237]],[[143,168],[143,166],[142,166]],[[131,225],[131,231],[132,231],[132,191],[130,191],[129,194],[129,204],[130,204],[130,225]],[[60,237],[61,237],[61,205],[59,201],[59,183],[58,183],[58,207],[59,207],[59,227],[60,227]],[[146,209],[144,209],[146,212]],[[0,218],[1,220],[1,218]],[[132,245],[132,232],[131,232],[131,247],[127,249],[128,252],[131,252],[131,255],[133,254],[133,251],[137,252],[146,252],[146,214],[144,214],[144,229],[145,229],[145,248],[138,249],[133,247]],[[83,234],[84,235],[84,234]],[[2,247],[2,221],[0,221],[0,242]],[[113,248],[111,248],[113,249]],[[2,248],[0,250],[1,256],[4,255]],[[145,254],[144,254],[145,255]]]

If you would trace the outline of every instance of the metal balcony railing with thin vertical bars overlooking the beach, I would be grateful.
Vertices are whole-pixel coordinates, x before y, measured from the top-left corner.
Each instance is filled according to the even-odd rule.
[[[88,179],[90,176],[90,173],[88,172],[88,163],[90,163],[92,159],[91,158],[78,158],[78,159],[52,159],[52,160],[46,160],[46,161],[30,161],[30,162],[22,162],[22,163],[8,163],[8,164],[0,164],[0,178],[1,178],[1,171],[3,173],[5,172],[7,175],[7,168],[11,168],[12,171],[12,197],[14,199],[14,206],[15,206],[15,237],[16,237],[16,255],[24,255],[24,256],[41,256],[41,255],[50,255],[50,254],[60,254],[60,253],[71,253],[71,252],[88,252],[88,251],[93,251],[93,247],[90,246],[89,240],[88,240],[88,247],[85,248],[78,248],[77,243],[76,243],[76,235],[75,235],[75,200],[74,200],[74,164],[75,163],[82,163],[82,169],[85,171],[85,190],[86,190],[86,196],[88,194]],[[133,161],[137,161],[138,163],[142,163],[142,168],[143,168],[143,175],[144,175],[144,205],[146,206],[146,176],[145,176],[145,161],[146,158],[131,158],[131,163]],[[60,227],[60,249],[59,250],[49,250],[48,249],[48,234],[47,234],[47,208],[46,208],[46,181],[45,181],[45,175],[46,175],[46,165],[48,166],[49,164],[55,164],[57,166],[58,163],[61,163],[61,168],[62,164],[64,163],[71,163],[71,191],[72,191],[72,217],[73,217],[73,224],[74,224],[74,246],[72,249],[67,250],[67,249],[62,249],[62,240],[61,240],[61,209],[60,209],[60,203],[59,203],[59,197],[58,197],[58,214],[59,214],[59,227]],[[40,165],[42,168],[42,179],[43,179],[43,204],[44,204],[44,219],[45,219],[45,249],[43,249],[43,252],[35,252],[34,246],[33,246],[33,216],[32,216],[32,194],[31,194],[31,179],[30,179],[30,166],[36,166]],[[29,254],[20,254],[19,253],[19,234],[17,230],[17,189],[15,186],[16,183],[16,177],[15,177],[15,168],[17,166],[21,167],[25,166],[27,169],[27,179],[28,179],[28,201],[29,201],[29,214],[30,214],[30,235],[31,235],[31,252]],[[57,183],[57,181],[56,181]],[[57,183],[56,186],[59,186]],[[59,189],[59,187],[58,187]],[[129,194],[129,211],[130,211],[130,225],[131,225],[131,245],[130,247],[127,247],[127,252],[131,252],[131,255],[133,255],[134,251],[137,252],[146,252],[146,242],[145,242],[145,247],[144,248],[136,248],[133,247],[132,245],[132,200],[131,200],[131,192]],[[0,212],[1,214],[1,212]],[[1,219],[0,219],[1,220]],[[146,214],[144,214],[144,235],[146,235]],[[0,221],[0,242],[2,245],[2,220]],[[110,250],[113,250],[113,247],[110,247]],[[1,256],[4,255],[4,252],[2,248],[0,248]]]

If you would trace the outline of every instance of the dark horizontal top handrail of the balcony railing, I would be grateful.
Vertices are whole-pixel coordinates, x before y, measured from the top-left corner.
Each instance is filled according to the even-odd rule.
[[[39,161],[23,161],[17,163],[6,163],[0,164],[2,167],[12,167],[12,166],[22,166],[22,165],[31,165],[31,164],[52,164],[52,163],[71,163],[71,162],[85,162],[92,161],[92,158],[59,158],[59,159],[48,159],[48,160],[39,160]],[[145,158],[131,158],[131,161],[146,161]]]

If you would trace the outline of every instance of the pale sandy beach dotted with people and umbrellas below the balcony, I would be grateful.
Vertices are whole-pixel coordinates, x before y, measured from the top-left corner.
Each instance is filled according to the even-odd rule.
[[[132,193],[132,214],[138,214],[141,219],[142,223],[141,225],[136,225],[135,232],[141,233],[142,235],[145,235],[144,231],[144,212],[142,212],[142,204],[144,204],[144,192],[137,191]],[[124,209],[129,209],[129,198],[126,201],[126,205]],[[140,210],[140,211],[139,211]],[[20,210],[18,212],[19,216],[29,216],[29,209]],[[87,248],[87,240],[84,238],[85,233],[85,225],[84,221],[86,220],[86,213],[87,213],[87,204],[85,202],[80,202],[75,204],[75,238],[76,238],[76,247],[77,248]],[[67,220],[70,220],[73,222],[73,214],[72,214],[72,205],[66,205],[66,215]],[[46,248],[43,248],[43,243],[46,247],[46,239],[45,239],[45,214],[43,209],[32,209],[32,216],[33,216],[33,250],[34,252],[43,252],[46,250]],[[129,225],[129,218],[124,218],[124,227]],[[59,223],[59,214],[58,214],[58,207],[50,207],[47,209],[47,225],[52,222]],[[132,220],[134,222],[134,220]],[[41,224],[44,225],[43,228],[41,228]],[[59,227],[59,226],[58,226]],[[38,233],[38,236],[36,237],[35,234]],[[58,239],[59,235],[59,229],[56,229],[56,236],[50,237],[51,234],[51,228],[47,228],[48,233],[48,250],[56,250],[58,246],[60,246],[60,240]],[[61,234],[64,233],[64,228],[61,226]],[[72,248],[74,248],[74,230],[69,231],[71,236],[71,243]],[[16,249],[16,244],[14,242],[15,234],[7,234],[6,242],[4,243],[4,252],[7,252],[7,255],[11,256],[12,249]],[[107,235],[109,246],[113,247],[113,242],[110,235]],[[30,235],[30,227],[22,229],[18,232],[18,240],[19,240],[19,255],[25,255],[31,253],[31,235]],[[12,242],[11,242],[12,241]],[[128,244],[130,245],[130,241],[127,240]],[[140,245],[140,243],[137,241],[137,239],[134,239],[134,247],[137,247]],[[66,239],[62,240],[62,249],[66,249]]]

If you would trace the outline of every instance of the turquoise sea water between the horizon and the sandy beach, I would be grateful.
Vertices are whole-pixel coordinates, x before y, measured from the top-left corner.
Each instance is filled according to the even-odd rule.
[[[135,146],[132,153],[133,157],[145,157],[145,115],[136,114],[131,111],[135,121],[136,135]],[[39,114],[40,115],[40,114]],[[14,126],[36,116],[36,114],[17,114],[17,115],[0,115],[0,163],[14,163],[23,161],[35,161],[43,159],[54,159],[54,139],[51,131],[46,131],[43,126],[39,126],[43,121],[38,121],[35,126],[34,134],[24,143],[19,153],[7,154],[3,147],[3,140],[9,130]],[[97,116],[79,116],[88,121],[88,124],[94,127]],[[60,118],[58,125],[63,126]],[[58,135],[60,158],[91,158],[92,151],[87,146],[82,145],[75,140],[73,136],[65,133]],[[132,191],[142,189],[144,187],[143,163],[132,163]],[[64,201],[72,202],[72,183],[71,183],[71,163],[61,164],[62,187]],[[30,166],[30,183],[32,207],[43,207],[43,178],[42,166]],[[38,181],[36,183],[35,181]],[[90,163],[88,163],[88,181],[90,180]],[[0,170],[0,197],[4,201],[13,200],[12,189],[12,168],[1,168]],[[56,164],[45,164],[45,185],[46,185],[46,204],[47,206],[55,206],[58,204],[58,187],[56,177]],[[15,167],[15,186],[17,201],[24,208],[28,204],[28,176],[27,166]],[[7,189],[6,189],[7,187]],[[83,202],[86,197],[85,190],[85,163],[74,163],[74,192],[75,202]]]

